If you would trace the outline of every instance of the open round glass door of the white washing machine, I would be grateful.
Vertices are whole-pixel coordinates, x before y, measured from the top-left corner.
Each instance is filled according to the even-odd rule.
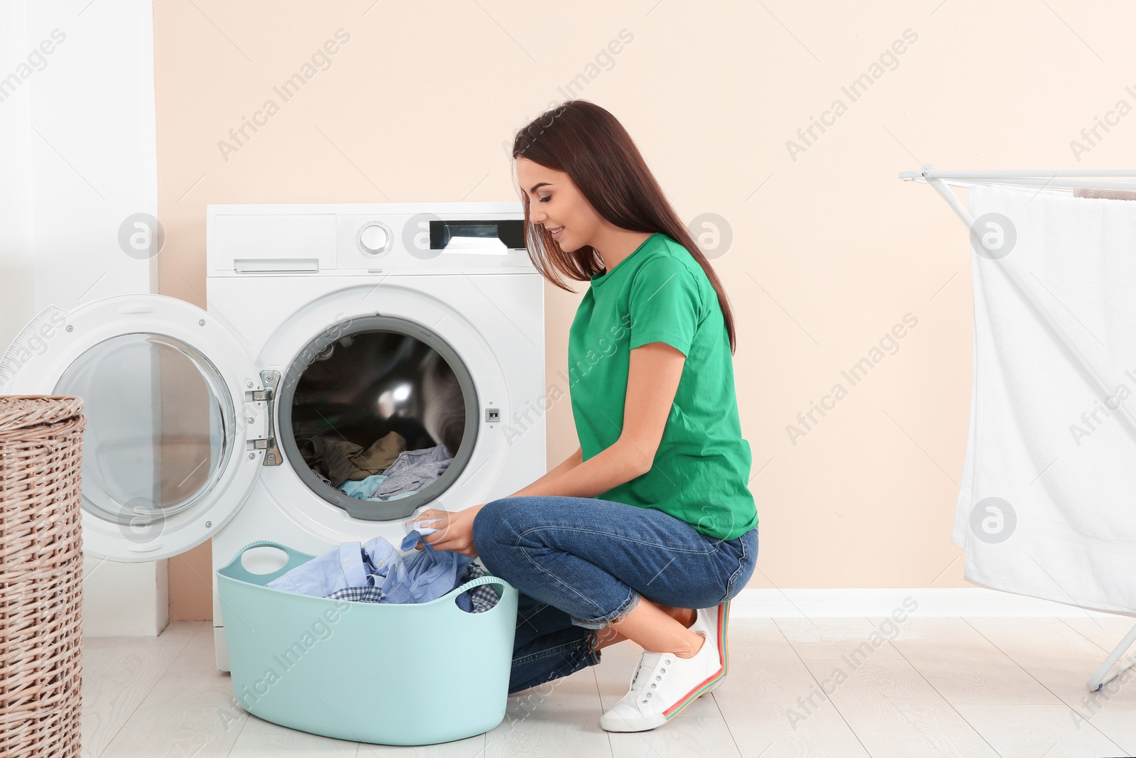
[[[83,550],[98,557],[157,560],[200,544],[244,501],[266,455],[254,442],[266,388],[249,352],[182,300],[49,308],[9,348],[0,378],[14,394],[83,398]]]

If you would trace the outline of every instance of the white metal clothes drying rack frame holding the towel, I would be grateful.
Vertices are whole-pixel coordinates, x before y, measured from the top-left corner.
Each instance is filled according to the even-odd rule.
[[[1086,177],[1094,178],[1092,181],[1086,181]],[[935,191],[943,195],[943,199],[946,200],[947,205],[954,209],[954,213],[959,215],[959,218],[967,225],[967,230],[971,234],[976,233],[975,219],[966,206],[963,206],[959,200],[958,195],[955,195],[947,185],[971,186],[975,184],[1010,184],[1017,186],[1037,186],[1038,192],[1043,192],[1049,189],[1076,190],[1077,188],[1136,190],[1136,183],[1134,182],[1100,181],[1101,178],[1108,180],[1119,177],[1136,178],[1136,170],[942,170],[935,168],[930,164],[925,164],[922,168],[913,172],[900,172],[900,178],[905,182],[925,182],[935,188]],[[1001,259],[999,259],[999,261],[1001,263]],[[1084,352],[1081,352],[1076,342],[1066,333],[1066,331],[1058,325],[1058,323],[1050,315],[1049,310],[1037,301],[1030,289],[1021,283],[1020,277],[1013,268],[1010,266],[1002,266],[1002,270],[1013,284],[1014,289],[1018,290],[1022,299],[1029,303],[1037,316],[1041,317],[1046,326],[1050,327],[1050,331],[1054,334],[1054,336],[1056,336],[1069,350],[1069,352],[1077,358],[1088,375],[1093,377],[1097,386],[1105,394],[1111,392],[1108,383],[1102,378],[1102,373],[1085,357]],[[1122,413],[1120,414],[1120,417],[1129,426],[1131,426],[1134,431],[1136,431],[1136,418],[1133,418],[1131,414],[1128,413],[1124,405],[1121,405],[1121,409]],[[1095,692],[1118,677],[1125,670],[1136,666],[1136,659],[1128,658],[1122,661],[1116,670],[1111,670],[1117,661],[1120,660],[1120,658],[1130,647],[1133,647],[1134,643],[1136,643],[1136,625],[1133,625],[1133,628],[1125,635],[1116,649],[1113,649],[1100,667],[1093,672],[1093,675],[1088,678],[1086,686],[1091,691]]]

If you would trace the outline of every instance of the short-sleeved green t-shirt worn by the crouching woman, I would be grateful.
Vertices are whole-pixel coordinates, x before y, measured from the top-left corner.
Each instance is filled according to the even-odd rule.
[[[630,351],[649,342],[686,356],[659,449],[651,470],[596,498],[658,508],[702,534],[733,540],[757,526],[758,511],[729,335],[705,272],[662,233],[592,277],[568,333],[571,408],[584,460],[619,439]]]

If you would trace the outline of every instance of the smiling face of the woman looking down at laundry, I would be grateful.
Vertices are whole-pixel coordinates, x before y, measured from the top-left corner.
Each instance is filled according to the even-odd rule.
[[[561,250],[570,252],[590,244],[603,219],[567,173],[517,158],[517,182],[528,195],[531,224],[552,232]]]

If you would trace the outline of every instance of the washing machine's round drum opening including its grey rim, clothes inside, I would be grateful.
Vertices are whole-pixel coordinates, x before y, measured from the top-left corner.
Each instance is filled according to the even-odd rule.
[[[285,459],[356,518],[394,519],[436,498],[469,459],[474,383],[438,335],[374,316],[328,328],[290,367],[277,399]]]

